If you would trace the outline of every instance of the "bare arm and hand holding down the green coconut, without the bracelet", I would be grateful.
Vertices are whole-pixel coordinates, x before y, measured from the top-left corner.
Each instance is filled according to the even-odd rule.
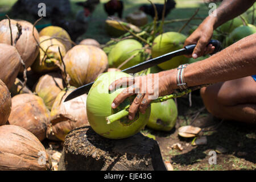
[[[184,78],[188,86],[213,84],[216,82],[233,80],[256,74],[256,34],[247,36],[240,41],[225,48],[221,52],[210,56],[208,59],[189,64],[185,68]],[[177,89],[176,75],[177,69],[164,71],[153,76],[159,77],[159,96],[171,94]],[[146,89],[146,83],[150,80],[150,76],[121,78],[114,81],[109,90],[113,90],[115,85],[122,82],[133,82],[133,86],[129,86],[127,90],[138,89],[140,92],[146,90],[146,93],[138,94],[129,109],[129,119],[133,119],[135,113],[140,110],[142,113],[146,110],[151,100],[148,96],[152,93]],[[151,84],[155,82],[151,80]],[[113,101],[113,108],[116,108],[125,98],[135,94],[135,92],[121,92]]]

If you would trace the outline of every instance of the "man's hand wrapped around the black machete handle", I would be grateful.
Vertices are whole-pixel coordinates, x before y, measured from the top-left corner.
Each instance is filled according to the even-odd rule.
[[[187,55],[188,57],[197,57],[207,55],[214,51],[214,46],[212,44],[207,44],[213,35],[213,23],[210,19],[205,19],[198,28],[185,40],[184,47],[189,44],[197,44],[192,55]]]

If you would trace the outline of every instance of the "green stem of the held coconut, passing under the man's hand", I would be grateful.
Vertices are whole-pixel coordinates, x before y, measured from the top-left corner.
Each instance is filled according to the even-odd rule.
[[[182,92],[176,92],[174,94],[171,94],[171,95],[168,95],[168,96],[162,96],[162,97],[158,97],[156,98],[156,100],[153,100],[151,102],[152,103],[158,103],[158,102],[164,102],[164,101],[167,101],[167,100],[170,100],[172,98],[178,98],[178,97],[182,97],[182,96],[185,96],[186,94],[188,93],[191,93],[193,92],[194,90],[197,90],[197,89],[201,89],[205,86],[209,86],[210,84],[207,84],[207,85],[200,85],[200,86],[193,86],[189,89],[186,89],[186,90],[183,90]],[[130,108],[130,105],[127,105],[125,107],[125,109],[119,111],[118,113],[115,113],[115,114],[112,114],[112,115],[109,115],[108,117],[106,117],[106,121],[108,124],[110,123],[113,123],[114,121],[118,121],[119,119],[123,118],[123,117],[126,117],[127,115],[129,115],[129,108]]]

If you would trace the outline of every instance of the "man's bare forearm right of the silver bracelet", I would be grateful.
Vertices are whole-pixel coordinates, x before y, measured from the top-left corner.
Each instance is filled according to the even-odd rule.
[[[208,59],[189,64],[184,72],[188,86],[251,75],[256,75],[256,34],[247,36]]]

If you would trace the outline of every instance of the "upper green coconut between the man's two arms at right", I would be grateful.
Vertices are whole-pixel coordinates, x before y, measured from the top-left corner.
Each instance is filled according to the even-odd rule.
[[[242,18],[245,20],[245,23],[247,23],[247,19],[245,16],[242,16]],[[228,22],[222,24],[220,26],[220,31],[230,33],[232,32],[235,28],[241,26],[243,24],[243,20],[240,18],[240,16],[229,20]]]

